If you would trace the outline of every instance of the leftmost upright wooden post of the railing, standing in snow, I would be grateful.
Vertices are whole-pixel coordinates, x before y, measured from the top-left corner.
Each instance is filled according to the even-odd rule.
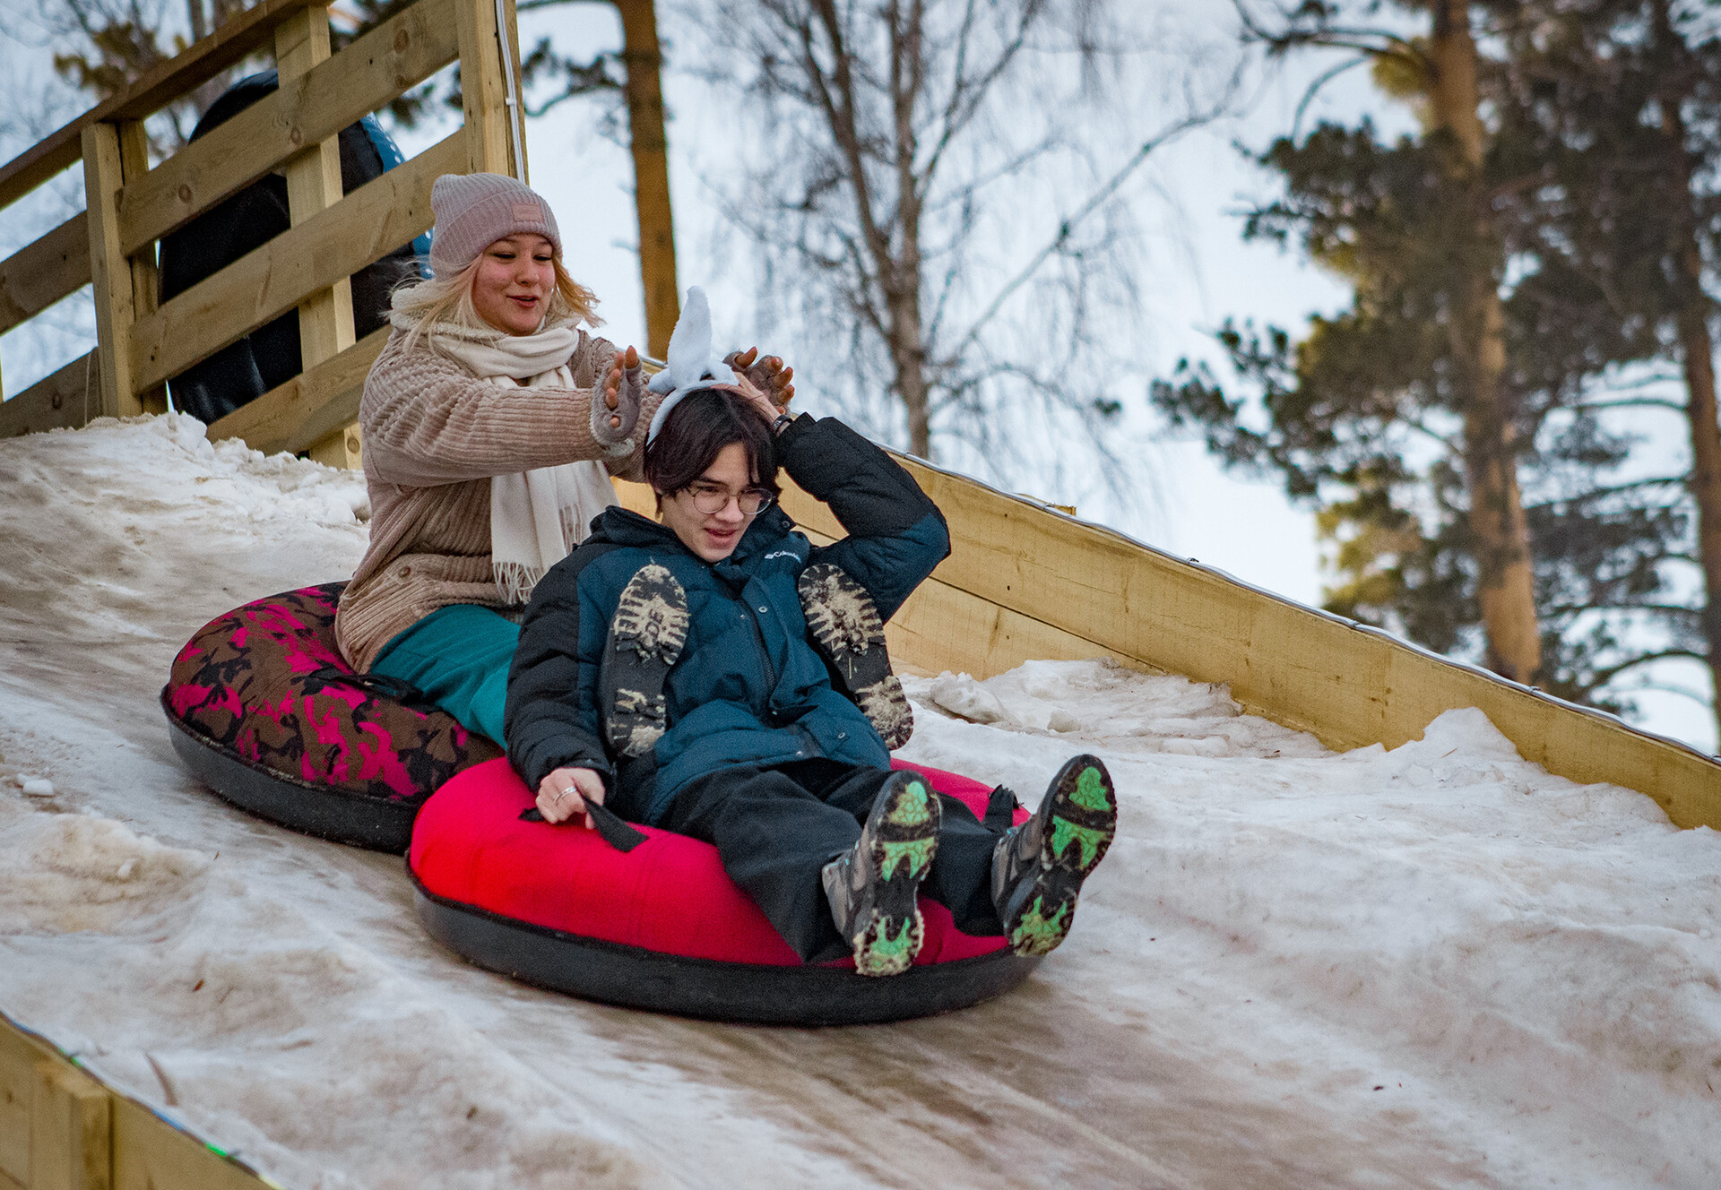
[[[126,418],[143,413],[143,402],[131,385],[131,325],[138,308],[131,261],[119,248],[119,191],[126,184],[119,129],[100,122],[84,126],[83,153],[102,413]]]

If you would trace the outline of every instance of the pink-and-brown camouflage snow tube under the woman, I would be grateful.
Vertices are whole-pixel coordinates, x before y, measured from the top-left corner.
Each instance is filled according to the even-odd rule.
[[[162,688],[174,751],[215,793],[293,831],[401,853],[444,781],[501,755],[453,715],[355,674],[334,643],[344,583],[205,624]],[[406,696],[406,702],[401,700]]]

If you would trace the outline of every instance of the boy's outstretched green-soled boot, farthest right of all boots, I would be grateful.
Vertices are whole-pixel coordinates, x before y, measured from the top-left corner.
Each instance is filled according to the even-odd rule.
[[[1010,949],[1050,954],[1070,930],[1081,884],[1117,834],[1117,794],[1098,757],[1072,757],[1033,819],[991,853],[991,903]]]

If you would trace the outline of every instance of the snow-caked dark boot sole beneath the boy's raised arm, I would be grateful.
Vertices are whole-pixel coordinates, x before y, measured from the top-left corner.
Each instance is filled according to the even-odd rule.
[[[860,707],[886,748],[909,743],[914,712],[897,674],[890,672],[885,621],[873,597],[830,562],[804,569],[795,588],[807,614],[807,631],[831,662],[836,690]]]

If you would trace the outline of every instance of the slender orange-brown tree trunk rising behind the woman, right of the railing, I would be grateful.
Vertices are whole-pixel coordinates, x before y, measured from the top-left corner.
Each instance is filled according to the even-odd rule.
[[[640,220],[640,285],[645,291],[645,351],[669,354],[682,316],[675,279],[675,220],[669,215],[669,138],[663,127],[663,52],[652,0],[616,0],[621,58],[628,64],[628,134],[633,141],[633,208]]]

